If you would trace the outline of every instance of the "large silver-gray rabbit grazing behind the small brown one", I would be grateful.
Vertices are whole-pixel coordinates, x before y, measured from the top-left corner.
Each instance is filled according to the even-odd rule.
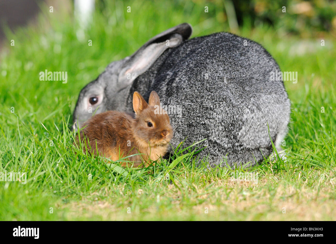
[[[155,90],[171,108],[173,147],[185,138],[184,146],[206,138],[199,156],[210,167],[253,166],[272,153],[270,138],[279,148],[290,101],[283,81],[270,79],[270,72],[280,71],[276,61],[258,43],[234,34],[187,40],[191,33],[191,25],[177,25],[108,65],[81,90],[74,129],[95,111],[133,113],[134,91],[148,101]]]

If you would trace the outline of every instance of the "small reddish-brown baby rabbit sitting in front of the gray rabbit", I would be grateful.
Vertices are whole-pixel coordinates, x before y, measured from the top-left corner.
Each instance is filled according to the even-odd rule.
[[[132,156],[127,160],[134,162],[135,167],[143,162],[148,166],[149,160],[156,161],[164,156],[173,137],[168,114],[158,108],[160,98],[155,91],[151,92],[149,104],[138,92],[134,92],[135,119],[118,111],[94,115],[83,124],[80,139],[85,142],[90,154],[99,154],[116,161],[120,157],[140,153],[142,155]],[[76,142],[79,143],[78,134]],[[84,152],[86,148],[83,147]],[[126,166],[126,163],[122,166]]]

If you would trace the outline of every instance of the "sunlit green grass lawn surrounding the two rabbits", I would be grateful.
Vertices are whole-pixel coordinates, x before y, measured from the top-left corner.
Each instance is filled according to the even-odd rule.
[[[193,37],[229,31],[222,9],[208,3],[204,13],[201,2],[175,4],[107,4],[83,40],[69,14],[49,13],[44,5],[35,25],[15,34],[7,30],[0,63],[0,171],[27,172],[28,178],[26,184],[0,182],[0,220],[336,220],[332,37],[324,37],[321,47],[321,39],[280,36],[268,26],[239,30],[262,44],[283,71],[298,72],[296,84],[285,82],[292,102],[286,162],[196,168],[196,146],[182,145],[174,165],[117,170],[73,146],[67,126],[79,91],[111,61],[181,22],[194,26]],[[45,69],[67,71],[68,82],[40,81]],[[258,182],[233,181],[233,172],[257,174]]]

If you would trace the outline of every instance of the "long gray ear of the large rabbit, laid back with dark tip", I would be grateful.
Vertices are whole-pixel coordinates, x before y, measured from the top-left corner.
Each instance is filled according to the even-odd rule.
[[[149,69],[166,49],[180,45],[191,36],[191,33],[191,25],[183,23],[167,29],[146,42],[121,67],[118,76],[120,88],[131,84],[140,74]]]

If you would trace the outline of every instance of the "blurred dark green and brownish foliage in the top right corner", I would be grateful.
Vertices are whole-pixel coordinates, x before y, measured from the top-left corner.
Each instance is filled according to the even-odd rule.
[[[234,6],[239,25],[249,21],[254,27],[266,22],[297,34],[336,29],[336,1],[237,0]]]

